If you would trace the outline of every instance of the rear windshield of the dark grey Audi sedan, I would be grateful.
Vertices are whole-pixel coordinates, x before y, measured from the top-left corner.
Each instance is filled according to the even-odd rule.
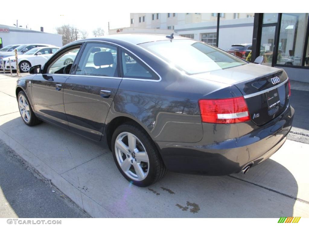
[[[247,64],[225,51],[192,39],[173,39],[142,43],[147,49],[171,66],[185,71],[188,75],[222,70]]]

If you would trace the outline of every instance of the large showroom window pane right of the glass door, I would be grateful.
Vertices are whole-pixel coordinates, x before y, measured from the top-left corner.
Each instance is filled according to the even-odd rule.
[[[306,55],[303,57],[303,47],[306,38],[308,13],[282,14],[278,43],[277,64],[302,66],[303,59],[306,66]],[[308,62],[308,58],[307,58]],[[308,65],[307,65],[308,66]]]

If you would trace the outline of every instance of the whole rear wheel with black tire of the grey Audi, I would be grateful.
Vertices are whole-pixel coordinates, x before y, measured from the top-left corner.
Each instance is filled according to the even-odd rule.
[[[153,140],[133,123],[116,128],[112,136],[112,153],[121,174],[139,187],[155,183],[167,172]]]

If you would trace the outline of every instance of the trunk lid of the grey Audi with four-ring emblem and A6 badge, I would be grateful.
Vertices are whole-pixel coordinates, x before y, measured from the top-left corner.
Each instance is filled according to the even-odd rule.
[[[282,69],[246,64],[197,76],[234,84],[243,94],[251,120],[263,125],[280,115],[289,104],[289,86]]]

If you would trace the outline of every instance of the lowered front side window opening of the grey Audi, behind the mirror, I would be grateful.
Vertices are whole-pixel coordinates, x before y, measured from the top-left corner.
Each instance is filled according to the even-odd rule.
[[[47,68],[47,73],[49,74],[66,74],[70,72],[70,67],[78,54],[80,47],[73,48],[69,51],[66,51],[64,54],[58,56],[53,63]],[[70,65],[70,66],[69,66]],[[67,66],[69,68],[67,68]],[[64,73],[64,70],[66,73]]]

